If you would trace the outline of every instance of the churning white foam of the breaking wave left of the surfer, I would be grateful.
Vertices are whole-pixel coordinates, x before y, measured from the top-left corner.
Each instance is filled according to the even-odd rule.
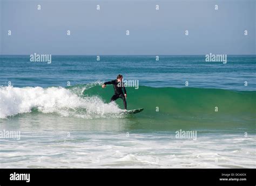
[[[106,104],[99,97],[82,98],[63,87],[0,88],[0,118],[31,112],[33,108],[83,118],[120,116],[115,114],[121,111],[115,103]]]

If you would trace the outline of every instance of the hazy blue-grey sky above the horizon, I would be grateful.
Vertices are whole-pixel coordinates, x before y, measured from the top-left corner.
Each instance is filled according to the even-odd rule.
[[[255,0],[0,2],[0,54],[256,54]]]

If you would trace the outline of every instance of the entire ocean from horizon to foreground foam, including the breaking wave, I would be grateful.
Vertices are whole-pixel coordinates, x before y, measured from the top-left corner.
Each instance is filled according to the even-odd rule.
[[[0,56],[1,168],[256,168],[255,55],[98,59]]]

